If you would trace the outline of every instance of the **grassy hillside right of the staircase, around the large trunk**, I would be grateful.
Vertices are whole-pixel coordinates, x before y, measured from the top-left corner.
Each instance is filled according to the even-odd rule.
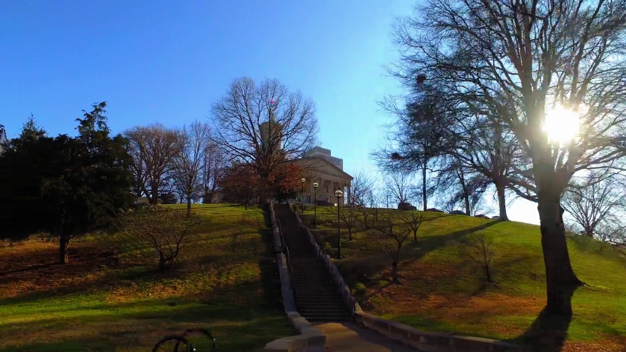
[[[302,219],[312,228],[312,209]],[[318,229],[312,232],[331,257],[336,257],[336,221],[336,208],[317,208]],[[547,326],[548,336],[567,333],[563,351],[626,347],[626,260],[608,245],[568,239],[574,270],[586,283],[573,296],[568,324],[538,319],[546,299],[536,225],[426,212],[419,241],[413,243],[411,234],[402,249],[401,284],[391,284],[391,261],[381,249],[391,248],[390,242],[376,230],[365,230],[362,219],[357,226],[354,241],[347,241],[342,229],[344,259],[336,264],[366,311],[425,331],[518,343],[536,339],[539,327],[546,334]],[[459,255],[456,241],[471,232],[493,236],[496,284],[486,284],[476,264]]]

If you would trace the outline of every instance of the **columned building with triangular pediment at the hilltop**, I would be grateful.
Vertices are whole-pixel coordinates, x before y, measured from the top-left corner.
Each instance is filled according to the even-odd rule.
[[[351,195],[352,176],[343,170],[343,160],[331,155],[331,150],[314,147],[302,153],[302,157],[294,160],[302,167],[304,173],[304,202],[313,204],[315,193],[313,184],[317,182],[317,200],[321,202],[337,203],[335,191],[341,190],[344,196],[340,200],[342,204]],[[302,198],[298,198],[300,202]]]

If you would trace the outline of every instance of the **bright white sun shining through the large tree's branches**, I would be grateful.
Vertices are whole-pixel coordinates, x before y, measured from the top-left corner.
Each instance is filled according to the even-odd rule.
[[[580,128],[580,114],[577,111],[557,105],[546,110],[543,122],[543,131],[548,134],[548,140],[558,145],[564,145],[577,137]]]

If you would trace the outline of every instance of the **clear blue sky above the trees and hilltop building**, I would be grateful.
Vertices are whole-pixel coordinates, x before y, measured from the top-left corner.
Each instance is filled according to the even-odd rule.
[[[349,173],[371,172],[369,152],[389,118],[377,101],[399,92],[383,66],[397,57],[397,16],[415,0],[39,1],[0,3],[0,123],[15,137],[32,112],[46,130],[109,104],[121,132],[206,118],[235,78],[277,78],[317,105],[322,145]],[[538,223],[518,200],[514,220]]]

